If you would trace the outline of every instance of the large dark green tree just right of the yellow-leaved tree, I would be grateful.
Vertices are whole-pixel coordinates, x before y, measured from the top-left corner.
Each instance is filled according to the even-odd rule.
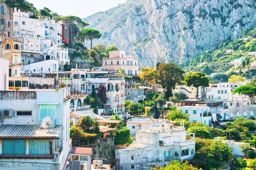
[[[184,79],[183,74],[185,72],[175,63],[159,64],[157,68],[157,79],[161,81],[165,97],[168,99],[172,96],[172,90],[175,88],[176,83]]]

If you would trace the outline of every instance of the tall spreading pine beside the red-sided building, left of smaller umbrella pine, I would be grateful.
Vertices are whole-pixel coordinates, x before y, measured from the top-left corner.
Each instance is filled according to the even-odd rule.
[[[89,24],[83,22],[83,20],[77,16],[69,15],[69,16],[62,16],[56,18],[56,20],[62,20],[67,24],[67,28],[69,30],[70,40],[69,46],[70,48],[76,47],[77,39],[83,29]]]

